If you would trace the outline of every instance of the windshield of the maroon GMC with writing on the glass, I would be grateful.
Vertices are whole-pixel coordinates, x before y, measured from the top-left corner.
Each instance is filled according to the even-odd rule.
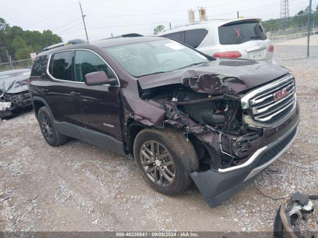
[[[200,53],[172,40],[156,40],[105,48],[134,77],[174,71],[207,62]]]

